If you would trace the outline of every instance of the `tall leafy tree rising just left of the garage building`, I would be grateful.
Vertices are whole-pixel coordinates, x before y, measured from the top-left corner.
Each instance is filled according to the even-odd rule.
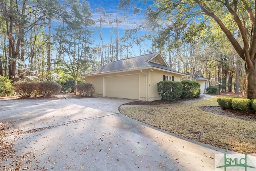
[[[68,4],[70,6],[70,4]],[[62,63],[70,75],[78,81],[78,74],[85,72],[90,65],[90,40],[91,31],[88,28],[94,24],[90,6],[87,1],[80,4],[73,1],[69,12],[63,11],[63,23],[57,29],[58,35],[55,36],[56,49],[62,58]]]

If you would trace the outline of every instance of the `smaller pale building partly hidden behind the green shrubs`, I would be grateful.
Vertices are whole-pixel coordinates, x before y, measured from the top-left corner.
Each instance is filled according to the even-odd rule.
[[[199,72],[194,73],[194,77],[191,78],[191,73],[187,73],[187,79],[182,78],[182,80],[194,80],[200,84],[200,93],[205,94],[206,89],[210,87],[211,80],[208,80],[207,78],[204,78],[202,75],[200,75]]]

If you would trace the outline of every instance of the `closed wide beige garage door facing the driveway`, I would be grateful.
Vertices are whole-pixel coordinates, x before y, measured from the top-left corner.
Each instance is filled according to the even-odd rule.
[[[105,77],[105,96],[139,99],[139,74]]]

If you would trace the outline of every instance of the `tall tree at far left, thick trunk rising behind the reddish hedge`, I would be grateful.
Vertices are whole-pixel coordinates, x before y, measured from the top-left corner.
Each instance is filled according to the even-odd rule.
[[[0,1],[0,16],[6,22],[5,34],[8,38],[8,76],[15,79],[16,64],[24,34],[34,26],[42,24],[49,16],[58,12],[58,1]],[[33,15],[35,20],[30,21]]]

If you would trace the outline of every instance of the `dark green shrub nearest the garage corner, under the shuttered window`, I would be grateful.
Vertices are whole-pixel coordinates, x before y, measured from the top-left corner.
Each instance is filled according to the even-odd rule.
[[[181,82],[161,81],[156,86],[163,101],[176,101],[182,95],[183,85]]]

